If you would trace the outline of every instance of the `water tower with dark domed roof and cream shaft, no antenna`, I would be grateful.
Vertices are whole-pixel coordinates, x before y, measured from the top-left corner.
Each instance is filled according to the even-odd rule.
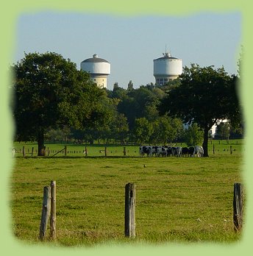
[[[100,88],[107,88],[107,76],[110,75],[110,63],[101,59],[97,54],[81,63],[81,70],[90,73],[90,79]]]

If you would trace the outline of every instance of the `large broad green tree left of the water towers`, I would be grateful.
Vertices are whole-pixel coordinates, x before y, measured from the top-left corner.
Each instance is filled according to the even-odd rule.
[[[104,90],[60,54],[25,54],[13,72],[15,132],[18,140],[38,141],[38,155],[45,154],[47,129],[63,125],[79,129],[106,119],[99,107]]]

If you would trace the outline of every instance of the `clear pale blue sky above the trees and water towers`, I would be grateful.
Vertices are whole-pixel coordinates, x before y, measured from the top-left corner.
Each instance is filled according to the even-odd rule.
[[[153,60],[165,49],[182,65],[224,66],[237,74],[242,40],[240,13],[119,16],[91,13],[38,12],[21,15],[16,26],[13,63],[24,52],[53,51],[76,63],[93,54],[110,63],[107,89],[154,83]]]

